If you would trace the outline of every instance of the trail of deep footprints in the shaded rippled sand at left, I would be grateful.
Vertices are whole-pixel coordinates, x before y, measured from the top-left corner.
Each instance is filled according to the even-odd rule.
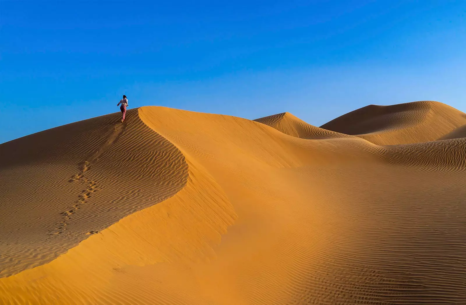
[[[81,172],[79,174],[74,175],[70,180],[68,180],[68,182],[70,183],[77,182],[77,181],[83,181],[89,184],[89,187],[81,191],[81,194],[78,195],[78,199],[74,202],[74,205],[72,208],[62,213],[64,220],[60,222],[58,228],[55,228],[54,234],[65,233],[67,226],[69,225],[69,220],[71,219],[71,216],[74,215],[80,208],[82,208],[82,206],[88,204],[89,203],[88,200],[92,196],[92,194],[99,190],[99,187],[97,187],[96,181],[89,180],[84,177],[84,173],[88,171],[89,168],[90,168],[89,162],[84,161],[82,164],[80,164]],[[96,234],[96,233],[98,233],[98,231],[89,231],[86,233],[86,235]]]

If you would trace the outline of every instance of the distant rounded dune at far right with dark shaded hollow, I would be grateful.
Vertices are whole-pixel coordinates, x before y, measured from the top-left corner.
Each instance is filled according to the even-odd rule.
[[[435,141],[466,124],[466,114],[434,101],[390,106],[369,105],[321,128],[355,135],[377,145]]]

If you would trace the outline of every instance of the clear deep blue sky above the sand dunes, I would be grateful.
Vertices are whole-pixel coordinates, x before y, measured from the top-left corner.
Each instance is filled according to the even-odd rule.
[[[0,0],[0,143],[163,105],[313,125],[368,104],[466,111],[466,1]]]

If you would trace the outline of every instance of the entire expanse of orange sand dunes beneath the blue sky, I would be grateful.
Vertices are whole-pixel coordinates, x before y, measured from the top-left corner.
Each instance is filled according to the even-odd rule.
[[[423,138],[425,103],[355,135],[143,107],[2,144],[0,304],[466,303],[465,114],[428,102]]]

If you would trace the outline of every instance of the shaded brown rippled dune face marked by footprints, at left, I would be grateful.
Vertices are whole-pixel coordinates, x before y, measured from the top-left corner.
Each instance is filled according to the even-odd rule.
[[[116,122],[111,114],[0,145],[0,277],[47,263],[185,186],[184,156],[137,110]]]

